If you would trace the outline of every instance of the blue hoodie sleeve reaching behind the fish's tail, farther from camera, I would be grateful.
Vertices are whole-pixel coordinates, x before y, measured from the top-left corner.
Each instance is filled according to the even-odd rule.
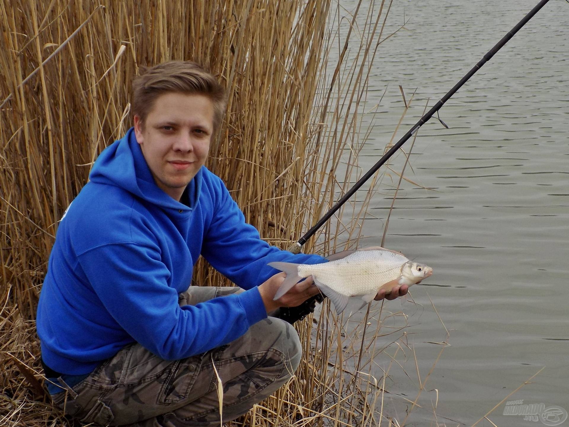
[[[272,261],[297,264],[326,262],[319,255],[292,254],[261,240],[257,229],[245,222],[245,216],[220,178],[215,178],[216,200],[213,218],[205,229],[201,254],[219,272],[244,289],[266,281],[279,270],[267,266]]]

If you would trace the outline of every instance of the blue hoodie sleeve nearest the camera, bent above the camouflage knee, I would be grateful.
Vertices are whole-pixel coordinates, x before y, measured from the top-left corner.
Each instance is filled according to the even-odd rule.
[[[134,340],[166,360],[227,344],[266,317],[256,288],[180,307],[177,291],[167,285],[170,272],[151,245],[102,245],[81,254],[79,261],[110,316]]]

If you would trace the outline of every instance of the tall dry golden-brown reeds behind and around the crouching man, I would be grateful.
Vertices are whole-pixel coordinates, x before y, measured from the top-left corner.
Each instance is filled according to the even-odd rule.
[[[389,6],[360,2],[355,14],[366,14],[366,26],[358,28],[330,0],[1,0],[0,425],[73,425],[43,395],[35,307],[57,221],[97,155],[130,126],[138,67],[192,59],[218,74],[228,114],[208,166],[262,238],[286,248],[361,174],[367,80],[390,36],[382,34]],[[353,247],[376,184],[305,251]],[[200,261],[194,281],[224,278]],[[298,329],[306,350],[298,376],[234,424],[389,424],[369,360],[394,343],[395,361],[401,330],[365,348],[366,332],[358,332],[361,344],[337,351],[345,329],[327,305]],[[356,360],[357,372],[344,358]]]

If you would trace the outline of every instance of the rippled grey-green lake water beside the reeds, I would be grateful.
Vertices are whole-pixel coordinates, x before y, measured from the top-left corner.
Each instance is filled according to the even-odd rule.
[[[399,84],[407,100],[417,93],[395,141],[422,116],[427,98],[434,105],[536,3],[395,0],[384,36],[404,17],[410,31],[399,31],[378,50],[368,104],[387,92],[362,151],[362,169],[383,153],[401,116]],[[353,11],[356,2],[341,5]],[[550,1],[440,117],[450,129],[435,118],[424,125],[411,155],[413,171],[406,171],[436,191],[402,184],[385,243],[434,268],[432,278],[411,288],[421,306],[385,305],[409,315],[407,340],[422,380],[441,348],[429,342],[447,340],[429,296],[450,332],[451,346],[419,399],[423,408],[409,420],[435,425],[431,390],[438,389],[439,424],[472,425],[542,367],[508,400],[569,410],[569,4]],[[370,204],[364,235],[371,237],[364,246],[381,242],[389,184],[384,178]],[[418,389],[410,348],[406,360],[398,360],[411,378],[393,369],[386,382],[385,405],[399,422],[409,407],[403,397],[414,400]],[[389,359],[384,354],[374,362],[381,377]],[[543,425],[504,415],[504,408],[489,415],[500,427]]]

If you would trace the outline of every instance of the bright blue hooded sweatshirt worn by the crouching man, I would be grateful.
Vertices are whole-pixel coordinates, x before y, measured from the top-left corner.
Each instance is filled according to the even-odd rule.
[[[165,360],[227,344],[266,318],[257,285],[271,261],[323,262],[259,238],[221,179],[205,167],[186,188],[187,205],[154,182],[134,129],[107,147],[65,212],[38,305],[48,367],[92,372],[129,343]],[[178,305],[200,253],[243,293]]]

